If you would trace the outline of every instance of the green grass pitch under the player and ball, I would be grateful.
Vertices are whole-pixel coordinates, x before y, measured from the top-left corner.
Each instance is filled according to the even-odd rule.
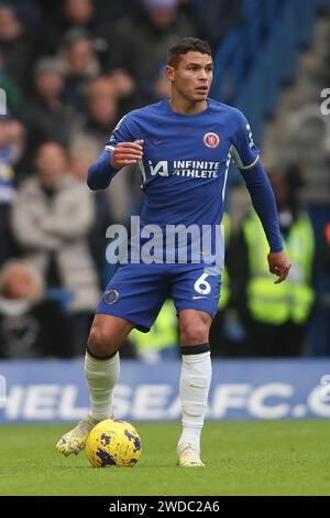
[[[175,465],[178,423],[134,425],[133,468],[63,457],[55,443],[68,425],[2,425],[0,495],[330,495],[330,421],[207,423],[205,468]]]

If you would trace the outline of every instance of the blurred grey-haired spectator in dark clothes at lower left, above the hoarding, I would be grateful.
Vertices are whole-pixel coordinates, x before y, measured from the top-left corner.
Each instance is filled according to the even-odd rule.
[[[0,357],[72,356],[69,323],[56,301],[44,299],[40,272],[21,260],[0,270]]]

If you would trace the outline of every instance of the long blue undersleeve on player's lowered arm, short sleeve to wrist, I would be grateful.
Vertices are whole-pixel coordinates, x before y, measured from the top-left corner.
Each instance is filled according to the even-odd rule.
[[[283,250],[275,196],[268,176],[260,162],[242,176],[250,192],[252,205],[260,217],[272,252]]]

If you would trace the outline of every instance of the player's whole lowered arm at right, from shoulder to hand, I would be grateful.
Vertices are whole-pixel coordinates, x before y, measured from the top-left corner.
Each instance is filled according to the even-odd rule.
[[[271,249],[267,256],[270,271],[277,277],[275,283],[278,284],[287,278],[290,262],[283,250],[275,196],[268,176],[260,162],[260,152],[253,142],[250,126],[242,114],[239,117],[231,153],[263,225]]]

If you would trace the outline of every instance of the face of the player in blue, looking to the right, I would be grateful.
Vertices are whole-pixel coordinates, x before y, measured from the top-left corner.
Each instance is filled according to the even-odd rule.
[[[189,101],[204,101],[208,97],[213,76],[213,62],[208,54],[187,52],[168,74],[173,88]]]

